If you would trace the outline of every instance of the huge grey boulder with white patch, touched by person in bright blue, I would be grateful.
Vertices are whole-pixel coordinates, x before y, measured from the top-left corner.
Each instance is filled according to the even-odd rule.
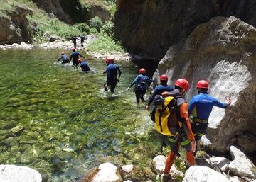
[[[213,108],[206,132],[208,149],[225,152],[238,131],[255,135],[255,40],[256,29],[251,25],[233,16],[216,17],[170,47],[159,62],[159,74],[167,72],[169,84],[180,77],[188,79],[188,101],[198,94],[200,79],[209,81],[211,96],[220,101],[227,96],[232,99],[231,108]]]

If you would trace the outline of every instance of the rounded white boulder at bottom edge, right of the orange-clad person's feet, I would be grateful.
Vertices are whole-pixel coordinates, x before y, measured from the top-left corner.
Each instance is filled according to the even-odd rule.
[[[182,182],[230,182],[230,180],[206,166],[191,166]]]

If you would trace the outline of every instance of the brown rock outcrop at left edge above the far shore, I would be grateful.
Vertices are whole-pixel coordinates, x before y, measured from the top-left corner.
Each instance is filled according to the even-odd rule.
[[[27,14],[33,10],[13,5],[13,9],[2,15],[0,20],[0,44],[28,41],[31,38],[33,27],[28,26]]]

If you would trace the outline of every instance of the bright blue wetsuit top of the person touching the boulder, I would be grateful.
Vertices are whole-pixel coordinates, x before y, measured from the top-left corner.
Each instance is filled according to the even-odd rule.
[[[208,93],[199,93],[191,99],[188,106],[188,115],[193,113],[193,118],[208,120],[213,106],[227,108],[228,104],[218,101],[216,98],[209,96]]]

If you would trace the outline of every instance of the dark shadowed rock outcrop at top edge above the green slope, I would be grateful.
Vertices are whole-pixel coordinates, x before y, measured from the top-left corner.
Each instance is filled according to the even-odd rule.
[[[103,7],[90,5],[88,8],[82,6],[78,0],[33,0],[40,8],[47,13],[53,13],[65,23],[81,23],[90,20],[95,16],[102,18],[102,21],[110,20],[110,13]]]

